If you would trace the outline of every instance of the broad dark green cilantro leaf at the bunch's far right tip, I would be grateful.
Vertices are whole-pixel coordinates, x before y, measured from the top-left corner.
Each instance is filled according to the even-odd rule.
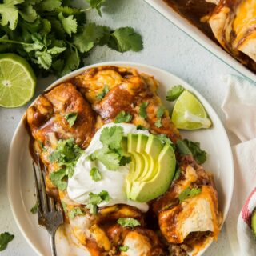
[[[140,51],[143,49],[142,37],[131,27],[122,27],[110,34],[110,48],[124,53],[128,50]]]

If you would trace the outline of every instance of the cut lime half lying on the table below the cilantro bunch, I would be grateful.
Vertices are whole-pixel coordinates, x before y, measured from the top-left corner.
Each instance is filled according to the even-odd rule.
[[[0,54],[0,106],[18,107],[34,95],[36,77],[30,64],[16,54]]]

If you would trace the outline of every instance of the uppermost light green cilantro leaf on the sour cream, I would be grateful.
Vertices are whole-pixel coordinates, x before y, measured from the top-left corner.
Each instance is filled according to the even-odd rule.
[[[122,135],[123,128],[121,126],[105,127],[99,139],[103,146],[109,146],[111,150],[114,150],[120,148]]]

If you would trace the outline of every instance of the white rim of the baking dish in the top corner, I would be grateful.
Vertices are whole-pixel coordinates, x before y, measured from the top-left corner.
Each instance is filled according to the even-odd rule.
[[[256,74],[251,72],[245,66],[242,66],[235,58],[233,58],[230,54],[226,53],[220,46],[218,46],[215,42],[207,38],[205,34],[202,33],[201,30],[194,25],[192,25],[186,18],[183,18],[180,14],[175,12],[170,6],[166,4],[166,2],[162,0],[145,0],[150,6],[154,7],[155,10],[158,10],[160,14],[165,16],[170,20],[175,26],[181,29],[183,32],[188,34],[191,38],[193,38],[196,42],[198,42],[201,46],[203,46],[206,50],[209,50],[212,54],[225,62],[227,65],[237,70],[240,74],[249,78],[250,80],[256,82]]]

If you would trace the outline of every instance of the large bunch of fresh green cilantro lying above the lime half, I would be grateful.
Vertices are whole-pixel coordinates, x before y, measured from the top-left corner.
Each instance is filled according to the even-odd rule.
[[[101,15],[106,0],[86,0],[90,8],[78,9],[71,1],[3,0],[0,3],[0,53],[26,58],[37,74],[62,76],[82,66],[94,46],[119,52],[142,50],[142,37],[131,27],[112,30],[86,22],[86,11]]]

